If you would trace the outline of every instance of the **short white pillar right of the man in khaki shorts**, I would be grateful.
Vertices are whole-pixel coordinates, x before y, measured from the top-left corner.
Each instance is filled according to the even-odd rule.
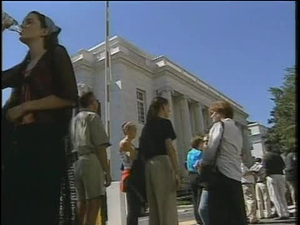
[[[126,225],[126,196],[120,191],[120,182],[112,182],[106,189],[108,225]]]

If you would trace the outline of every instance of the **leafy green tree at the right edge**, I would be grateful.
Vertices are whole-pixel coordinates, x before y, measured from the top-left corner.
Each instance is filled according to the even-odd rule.
[[[268,120],[273,126],[265,135],[269,146],[276,146],[283,152],[296,149],[296,68],[285,71],[283,85],[269,89],[275,106]]]

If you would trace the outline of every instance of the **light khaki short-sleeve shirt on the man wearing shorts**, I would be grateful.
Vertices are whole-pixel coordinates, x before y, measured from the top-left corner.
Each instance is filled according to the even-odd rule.
[[[81,110],[72,119],[70,135],[79,155],[95,153],[101,145],[110,146],[99,115],[88,110]]]

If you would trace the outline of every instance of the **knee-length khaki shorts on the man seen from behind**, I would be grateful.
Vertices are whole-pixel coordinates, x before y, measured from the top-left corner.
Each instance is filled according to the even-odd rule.
[[[97,198],[105,194],[103,170],[94,153],[79,156],[74,168],[75,187],[79,201]]]

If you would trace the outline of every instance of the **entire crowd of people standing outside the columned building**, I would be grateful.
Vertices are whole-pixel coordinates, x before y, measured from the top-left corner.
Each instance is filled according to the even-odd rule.
[[[2,22],[2,31],[11,24]],[[66,171],[64,140],[70,136],[75,150],[75,187],[79,225],[95,225],[105,188],[111,184],[106,148],[110,146],[92,91],[79,91],[71,60],[58,44],[61,29],[47,16],[33,11],[24,19],[20,41],[28,46],[24,60],[2,72],[2,88],[12,94],[3,108],[2,222],[6,225],[57,225],[61,183]],[[72,116],[72,109],[80,110]],[[248,168],[240,130],[226,101],[210,106],[209,133],[192,140],[186,169],[191,183],[198,224],[242,225],[271,217],[271,204],[279,219],[289,217],[286,181],[297,199],[295,154],[285,163],[277,153]],[[120,191],[126,193],[127,225],[137,225],[141,208],[149,205],[150,225],[178,224],[176,193],[182,186],[176,134],[167,99],[155,97],[146,124],[133,145],[137,127],[125,122],[120,129],[122,161]],[[202,171],[216,166],[215,180],[201,183]],[[285,170],[284,170],[285,169]],[[285,177],[283,174],[285,171]],[[256,197],[257,196],[257,197]],[[246,203],[246,204],[245,204]]]

